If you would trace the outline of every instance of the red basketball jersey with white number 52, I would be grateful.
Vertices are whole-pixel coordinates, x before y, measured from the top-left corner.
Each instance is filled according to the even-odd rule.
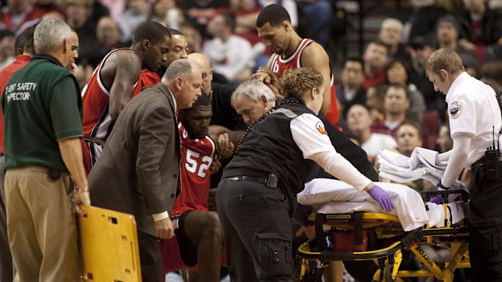
[[[174,201],[172,216],[187,210],[208,211],[207,201],[211,188],[209,167],[216,149],[213,139],[190,139],[182,123],[178,124],[181,140],[181,194]]]

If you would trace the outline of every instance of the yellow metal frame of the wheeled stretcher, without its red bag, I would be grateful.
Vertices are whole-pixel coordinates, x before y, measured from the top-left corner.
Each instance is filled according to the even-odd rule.
[[[467,201],[466,191],[454,190],[439,192],[440,194],[460,194],[464,202]],[[423,198],[436,192],[424,192]],[[446,209],[446,204],[443,205]],[[374,274],[374,281],[403,281],[402,277],[434,276],[441,281],[451,282],[453,272],[457,268],[470,268],[468,253],[469,230],[464,222],[464,226],[450,226],[448,213],[445,213],[444,228],[423,228],[404,232],[397,217],[390,214],[363,213],[362,229],[372,228],[377,237],[397,239],[392,244],[381,249],[360,252],[336,252],[327,247],[326,235],[332,230],[324,231],[323,225],[328,225],[342,230],[353,230],[353,214],[316,214],[315,216],[316,237],[302,244],[297,251],[302,258],[300,272],[301,281],[321,281],[322,268],[328,262],[334,260],[373,260],[379,265],[379,270]],[[465,221],[465,220],[464,220]],[[358,229],[361,230],[361,227]],[[400,237],[399,237],[400,236]],[[450,242],[451,258],[450,263],[445,263],[443,267],[437,265],[425,251],[420,249],[418,243],[429,244],[432,242]],[[425,270],[400,270],[402,262],[402,250],[407,249],[420,260],[427,269]],[[442,266],[442,265],[441,265]],[[382,273],[383,272],[383,273]]]

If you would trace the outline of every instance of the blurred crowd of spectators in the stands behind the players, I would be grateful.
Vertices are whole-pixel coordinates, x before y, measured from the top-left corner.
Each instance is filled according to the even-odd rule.
[[[340,67],[335,76],[339,125],[372,162],[386,148],[408,156],[417,146],[441,152],[451,148],[444,95],[425,73],[434,50],[455,50],[470,75],[502,93],[502,1],[402,2],[409,8],[389,11],[393,16],[383,19],[363,54],[331,62]],[[339,44],[329,32],[336,0],[3,0],[0,70],[20,55],[15,39],[24,30],[47,17],[63,19],[79,37],[75,77],[82,90],[105,54],[129,47],[137,27],[155,21],[180,31],[190,53],[210,59],[214,81],[237,86],[266,65],[271,54],[259,46],[256,29],[259,12],[271,3],[287,9],[303,38],[325,49]]]

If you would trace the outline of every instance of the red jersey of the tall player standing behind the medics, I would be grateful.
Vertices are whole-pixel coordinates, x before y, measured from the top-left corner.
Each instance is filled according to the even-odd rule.
[[[271,70],[277,73],[279,77],[282,77],[282,74],[285,70],[301,68],[301,55],[303,53],[303,50],[305,50],[305,48],[312,42],[314,42],[314,40],[310,38],[303,38],[300,44],[298,44],[298,46],[296,47],[295,52],[288,58],[282,58],[279,54],[273,54]],[[328,112],[326,113],[326,118],[330,121],[331,124],[336,125],[340,117],[338,116],[338,107],[335,93],[335,77],[333,77],[333,72],[331,73],[330,86],[331,104]]]

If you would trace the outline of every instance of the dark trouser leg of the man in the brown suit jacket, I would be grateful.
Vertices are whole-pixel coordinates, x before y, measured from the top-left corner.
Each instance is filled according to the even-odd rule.
[[[157,238],[138,231],[139,260],[142,269],[142,281],[162,282],[162,256]]]

